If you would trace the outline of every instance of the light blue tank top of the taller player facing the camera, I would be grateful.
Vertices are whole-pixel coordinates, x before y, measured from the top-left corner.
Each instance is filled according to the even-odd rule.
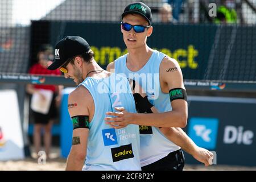
[[[115,60],[114,65],[115,73],[125,74],[126,77],[134,79],[142,86],[148,100],[160,113],[172,110],[169,94],[162,92],[159,81],[159,67],[165,56],[162,52],[155,50],[144,67],[137,72],[132,72],[126,67],[127,54]],[[179,146],[167,139],[158,127],[140,126],[140,133],[142,167],[180,149]]]

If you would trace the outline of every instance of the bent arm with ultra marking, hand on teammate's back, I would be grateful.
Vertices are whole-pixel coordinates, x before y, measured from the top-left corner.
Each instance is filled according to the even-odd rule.
[[[176,69],[175,69],[176,68]],[[167,70],[174,69],[175,71]],[[160,82],[163,83],[162,91],[168,93],[169,90],[174,88],[183,88],[183,77],[181,69],[177,61],[165,57],[160,64]],[[188,106],[185,100],[174,100],[171,102],[172,111],[164,113],[128,113],[122,111],[121,114],[108,113],[108,115],[117,116],[115,118],[105,118],[106,121],[113,121],[112,127],[118,128],[117,125],[143,125],[143,126],[155,126],[155,127],[185,127],[187,125]],[[119,110],[121,111],[121,110]],[[115,125],[115,126],[114,126]]]

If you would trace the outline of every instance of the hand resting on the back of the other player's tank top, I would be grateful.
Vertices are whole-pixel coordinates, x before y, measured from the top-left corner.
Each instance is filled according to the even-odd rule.
[[[121,129],[133,121],[133,113],[128,113],[124,107],[115,107],[115,110],[119,112],[106,112],[106,115],[112,116],[105,117],[107,125],[110,125],[114,129]]]

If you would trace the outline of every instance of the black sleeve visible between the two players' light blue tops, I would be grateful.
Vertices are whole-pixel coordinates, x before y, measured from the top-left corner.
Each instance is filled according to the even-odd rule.
[[[148,101],[147,96],[144,98],[139,93],[133,94],[135,100],[135,106],[138,113],[152,113],[151,107],[153,106],[150,101]]]

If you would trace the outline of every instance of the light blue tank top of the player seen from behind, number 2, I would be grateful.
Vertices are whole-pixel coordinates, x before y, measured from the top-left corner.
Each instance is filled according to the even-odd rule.
[[[116,111],[114,107],[136,112],[127,78],[112,73],[101,79],[87,77],[80,85],[89,90],[95,107],[83,170],[141,170],[138,126],[113,129],[104,121],[107,111]]]

